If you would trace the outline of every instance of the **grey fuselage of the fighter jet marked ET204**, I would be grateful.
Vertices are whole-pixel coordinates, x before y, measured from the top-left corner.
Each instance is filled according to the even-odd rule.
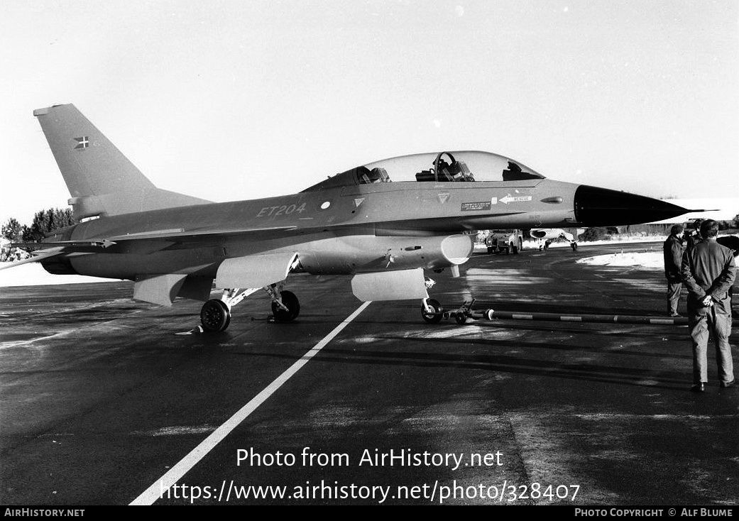
[[[102,217],[50,240],[116,242],[69,264],[121,279],[152,270],[208,276],[223,259],[279,251],[299,253],[300,268],[317,274],[438,269],[471,254],[469,236],[451,236],[573,222],[577,188],[552,180],[343,186]]]

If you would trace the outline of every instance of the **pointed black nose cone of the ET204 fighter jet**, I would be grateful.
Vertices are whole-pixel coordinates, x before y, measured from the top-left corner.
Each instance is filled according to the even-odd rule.
[[[669,202],[597,186],[579,185],[575,191],[575,218],[585,226],[636,225],[688,212]]]

